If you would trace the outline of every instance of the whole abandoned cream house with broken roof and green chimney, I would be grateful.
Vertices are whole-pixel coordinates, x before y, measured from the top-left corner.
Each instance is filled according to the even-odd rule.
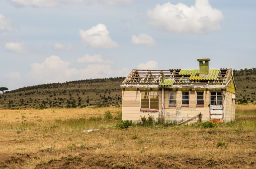
[[[197,59],[199,69],[133,69],[120,85],[122,119],[228,122],[235,118],[231,68],[209,69],[209,58]]]

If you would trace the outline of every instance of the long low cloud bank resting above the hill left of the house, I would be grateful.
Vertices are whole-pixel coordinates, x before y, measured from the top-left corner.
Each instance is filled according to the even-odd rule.
[[[0,85],[8,87],[9,90],[13,90],[36,84],[126,76],[129,73],[126,67],[113,69],[106,61],[105,63],[89,64],[83,69],[70,68],[69,62],[61,60],[61,58],[56,55],[45,58],[41,63],[31,63],[30,66],[31,71],[25,75],[19,72],[0,74]]]

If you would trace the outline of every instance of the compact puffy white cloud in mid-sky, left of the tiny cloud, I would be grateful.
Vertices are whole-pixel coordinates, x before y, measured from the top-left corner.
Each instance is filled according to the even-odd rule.
[[[99,23],[88,30],[79,29],[79,34],[84,45],[93,48],[118,47],[117,42],[111,39],[105,24]]]

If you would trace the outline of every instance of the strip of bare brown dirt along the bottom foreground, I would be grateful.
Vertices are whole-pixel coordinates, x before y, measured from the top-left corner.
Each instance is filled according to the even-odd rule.
[[[77,151],[77,149],[73,149]],[[37,159],[45,155],[51,155],[57,152],[39,152],[34,154],[1,154],[0,168],[14,166],[23,167],[25,161]],[[255,158],[256,151],[253,154],[240,154],[235,160],[214,161],[191,158],[190,156],[138,156],[131,159],[129,156],[111,156],[92,155],[80,150],[77,156],[63,156],[58,160],[50,160],[42,163],[36,168],[256,168],[255,162],[247,163],[248,158]]]

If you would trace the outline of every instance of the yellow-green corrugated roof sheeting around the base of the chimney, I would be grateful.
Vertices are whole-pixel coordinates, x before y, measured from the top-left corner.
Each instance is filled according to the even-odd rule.
[[[209,77],[199,77],[199,69],[181,69],[180,75],[190,75],[190,80],[215,80],[219,69],[209,69]]]

